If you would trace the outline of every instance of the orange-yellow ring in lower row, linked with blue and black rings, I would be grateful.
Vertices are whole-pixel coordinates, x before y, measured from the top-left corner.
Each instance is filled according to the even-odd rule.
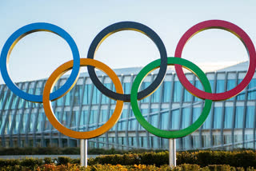
[[[118,76],[114,73],[113,70],[110,69],[110,67],[106,66],[102,62],[98,62],[97,60],[90,59],[90,58],[81,58],[80,66],[94,66],[99,70],[102,70],[111,78],[112,82],[114,82],[114,86],[117,93],[123,93],[122,84],[119,81]],[[57,129],[59,132],[63,133],[68,137],[74,137],[77,139],[89,139],[92,137],[98,137],[103,133],[106,133],[106,131],[111,129],[115,125],[115,123],[118,121],[122,113],[123,101],[117,101],[116,107],[114,109],[114,113],[112,114],[110,119],[106,121],[106,123],[101,127],[99,127],[98,129],[94,129],[88,132],[79,132],[79,131],[74,131],[66,128],[54,116],[54,112],[52,110],[51,102],[50,102],[50,92],[54,88],[54,84],[58,81],[58,79],[62,76],[62,74],[65,74],[67,70],[71,70],[72,68],[73,68],[73,60],[62,64],[62,66],[59,66],[56,70],[54,70],[54,73],[51,74],[50,78],[47,80],[45,88],[42,93],[42,103],[43,103],[43,108],[45,109],[46,117],[48,117],[51,125],[53,125],[55,129]],[[74,87],[74,84],[70,87],[70,89]],[[66,93],[68,93],[70,89],[68,89]],[[65,94],[63,94],[63,96]]]

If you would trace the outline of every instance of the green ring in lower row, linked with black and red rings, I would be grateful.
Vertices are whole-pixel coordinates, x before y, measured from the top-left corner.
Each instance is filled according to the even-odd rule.
[[[146,78],[147,74],[150,74],[152,70],[155,70],[159,68],[161,63],[161,60],[155,60],[154,62],[150,62],[147,66],[145,66],[139,74],[136,76],[134,83],[131,88],[131,95],[130,95],[130,104],[132,106],[132,109],[134,111],[134,115],[137,118],[138,122],[150,133],[153,133],[154,135],[158,137],[166,137],[166,138],[178,138],[178,137],[185,137],[186,135],[193,133],[196,129],[198,129],[204,121],[206,121],[206,118],[208,117],[210,113],[210,108],[212,101],[206,99],[205,101],[205,106],[202,109],[202,113],[200,117],[194,123],[185,129],[177,130],[177,131],[168,131],[168,130],[162,130],[154,127],[153,125],[150,125],[149,122],[146,121],[146,119],[142,116],[142,113],[140,109],[138,108],[138,101],[137,101],[137,96],[138,96],[138,89],[144,80]],[[210,88],[210,82],[208,78],[206,77],[206,74],[202,72],[198,66],[196,66],[194,63],[187,61],[186,59],[183,58],[168,58],[168,66],[178,64],[181,66],[186,67],[187,70],[190,70],[193,72],[198,79],[202,82],[202,85],[205,89],[206,92],[211,93],[211,88]],[[186,87],[186,86],[185,86]],[[156,89],[155,89],[156,90]],[[154,91],[155,91],[154,90]],[[154,93],[154,92],[153,92]]]

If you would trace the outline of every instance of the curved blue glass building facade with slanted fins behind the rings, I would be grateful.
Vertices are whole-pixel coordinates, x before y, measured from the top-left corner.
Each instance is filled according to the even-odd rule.
[[[132,82],[141,68],[115,70],[125,93],[130,93]],[[145,89],[158,71],[148,75],[142,82]],[[245,77],[245,70],[222,70],[207,73],[214,93],[233,89]],[[66,82],[62,77],[54,89]],[[98,78],[109,89],[114,89],[110,78],[98,72]],[[202,89],[194,74],[186,78]],[[18,82],[19,89],[42,94],[45,80]],[[58,121],[70,129],[88,131],[103,125],[115,108],[114,100],[98,91],[88,74],[80,74],[77,84],[64,97],[52,101]],[[143,116],[159,129],[184,129],[197,120],[204,101],[192,96],[178,81],[173,70],[168,70],[162,85],[138,102]],[[176,139],[177,150],[187,149],[255,149],[256,74],[250,84],[226,101],[213,102],[204,124],[194,133]],[[168,149],[166,138],[148,133],[136,120],[130,103],[124,103],[122,115],[107,133],[88,140],[89,148],[117,149]],[[54,129],[48,121],[42,104],[25,101],[6,87],[0,85],[0,145],[4,147],[26,146],[78,146],[79,140],[66,137]]]

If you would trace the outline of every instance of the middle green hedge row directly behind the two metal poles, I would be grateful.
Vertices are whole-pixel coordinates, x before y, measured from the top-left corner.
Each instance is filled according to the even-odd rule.
[[[169,153],[128,153],[128,154],[114,154],[104,155],[88,160],[88,165],[168,165]],[[4,160],[0,159],[0,168],[3,166],[31,166],[56,163],[56,165],[80,164],[80,159],[70,159],[70,157],[58,157],[51,159],[46,157],[42,159],[22,159],[22,160]],[[198,152],[181,152],[177,153],[177,165],[191,164],[206,167],[210,165],[230,165],[233,167],[242,167],[244,169],[249,167],[256,168],[256,153],[254,151],[198,151]]]

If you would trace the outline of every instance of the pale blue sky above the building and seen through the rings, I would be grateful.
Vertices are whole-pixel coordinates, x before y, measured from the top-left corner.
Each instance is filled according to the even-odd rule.
[[[178,41],[186,30],[211,19],[225,20],[241,27],[256,45],[255,9],[254,0],[1,0],[0,50],[14,31],[34,22],[48,22],[66,30],[74,38],[81,58],[86,58],[90,43],[101,30],[123,21],[149,26],[162,38],[169,57],[174,56]],[[112,34],[95,54],[95,59],[112,69],[146,66],[158,58],[160,55],[154,42],[135,31]],[[248,60],[242,42],[225,30],[205,30],[196,34],[186,44],[182,58],[202,67],[230,66]],[[71,59],[69,46],[58,35],[48,32],[29,34],[10,54],[10,77],[14,82],[48,78],[58,66]]]

